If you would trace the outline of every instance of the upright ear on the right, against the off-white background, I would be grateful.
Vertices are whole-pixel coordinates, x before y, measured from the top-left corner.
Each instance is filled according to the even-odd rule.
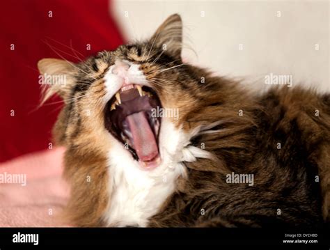
[[[182,20],[180,15],[169,16],[159,26],[150,42],[166,49],[175,58],[180,58],[182,50]]]

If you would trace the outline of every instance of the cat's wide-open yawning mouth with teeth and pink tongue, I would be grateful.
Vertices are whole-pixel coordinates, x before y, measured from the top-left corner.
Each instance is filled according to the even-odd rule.
[[[105,127],[122,142],[143,168],[159,165],[158,134],[161,119],[152,109],[161,107],[155,91],[130,84],[109,100],[105,109]]]

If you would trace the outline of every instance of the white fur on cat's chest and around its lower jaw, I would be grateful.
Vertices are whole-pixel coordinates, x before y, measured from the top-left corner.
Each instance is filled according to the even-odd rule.
[[[180,175],[186,174],[182,162],[196,157],[210,157],[200,148],[189,145],[194,134],[175,129],[166,118],[159,133],[162,164],[152,171],[141,169],[132,155],[118,141],[109,151],[109,207],[104,214],[108,226],[147,226],[166,198],[170,196]]]

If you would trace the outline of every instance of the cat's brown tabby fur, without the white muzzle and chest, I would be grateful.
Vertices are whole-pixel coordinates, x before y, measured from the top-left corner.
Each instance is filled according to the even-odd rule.
[[[146,226],[315,226],[329,221],[330,95],[299,87],[258,95],[183,63],[181,48],[182,21],[172,15],[145,42],[78,64],[39,62],[40,72],[69,79],[64,88],[51,86],[46,99],[57,93],[65,102],[54,138],[67,148],[70,221],[106,225],[103,214],[115,192],[107,171],[114,138],[104,128],[100,100],[107,94],[104,75],[116,59],[139,64],[162,106],[179,109],[179,119],[170,122],[190,134],[182,148],[211,155],[180,162],[187,176],[176,180],[175,192]],[[254,185],[228,183],[232,172],[253,174]]]

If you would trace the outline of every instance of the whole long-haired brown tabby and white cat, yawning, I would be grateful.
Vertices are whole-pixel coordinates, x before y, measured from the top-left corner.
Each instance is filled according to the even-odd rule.
[[[182,19],[81,63],[45,58],[64,106],[74,226],[322,226],[330,205],[330,95],[247,91],[183,63]],[[155,115],[157,114],[157,115]],[[174,116],[173,114],[178,114]]]

